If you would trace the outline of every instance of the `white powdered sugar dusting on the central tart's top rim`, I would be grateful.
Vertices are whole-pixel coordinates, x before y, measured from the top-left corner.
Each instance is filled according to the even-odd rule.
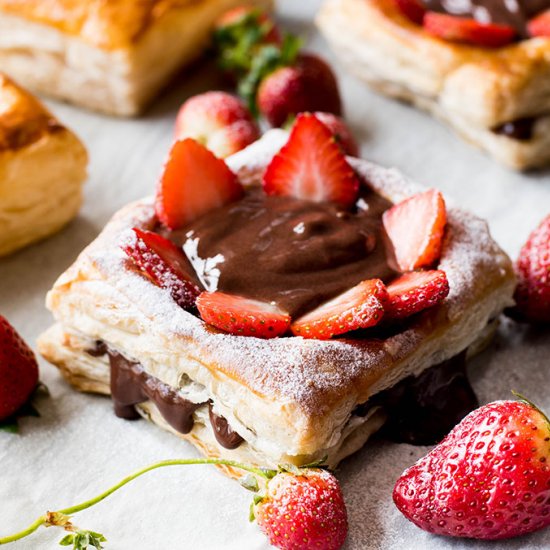
[[[275,139],[271,136],[276,135]],[[254,165],[256,183],[265,163],[280,147],[282,134],[268,133],[253,146],[229,160],[235,169]],[[269,153],[268,153],[269,152]],[[261,154],[260,154],[261,153]],[[237,161],[235,160],[237,158]],[[396,170],[387,170],[366,161],[350,160],[358,174],[378,193],[393,202],[402,200],[422,187],[409,182]],[[252,173],[247,170],[247,177]],[[250,183],[254,183],[252,180]],[[80,262],[91,262],[104,283],[113,289],[113,299],[125,297],[149,321],[146,330],[166,341],[177,339],[196,343],[200,358],[214,364],[230,377],[243,381],[252,392],[278,400],[297,403],[310,414],[322,414],[337,402],[346,400],[349,408],[365,401],[382,375],[392,379],[397,361],[406,361],[430,339],[435,327],[449,320],[466,322],[469,308],[489,292],[504,288],[510,281],[510,263],[491,239],[486,224],[458,209],[449,210],[449,227],[443,246],[440,268],[445,270],[451,287],[448,298],[435,310],[420,315],[409,329],[385,340],[333,339],[304,340],[285,337],[261,340],[216,331],[199,318],[179,308],[170,292],[155,286],[136,272],[121,249],[132,226],[150,229],[155,223],[151,198],[122,209],[102,234],[81,255]],[[495,307],[501,308],[498,302]],[[487,312],[487,315],[494,312]],[[486,322],[487,319],[483,319]],[[439,325],[439,326],[438,326]],[[476,327],[469,329],[470,340]],[[456,353],[459,350],[455,350]],[[452,349],[425,352],[422,368],[443,360]],[[415,359],[420,361],[418,357]],[[402,375],[402,374],[401,374]]]

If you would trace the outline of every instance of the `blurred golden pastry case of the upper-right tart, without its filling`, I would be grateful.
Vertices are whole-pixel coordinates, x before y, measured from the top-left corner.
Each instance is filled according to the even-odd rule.
[[[498,49],[456,44],[409,21],[393,0],[327,0],[317,24],[376,90],[431,112],[507,166],[550,163],[550,39]],[[491,131],[531,117],[529,140]]]

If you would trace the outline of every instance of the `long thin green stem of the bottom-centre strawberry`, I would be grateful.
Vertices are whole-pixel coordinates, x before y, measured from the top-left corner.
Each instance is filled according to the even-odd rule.
[[[142,476],[147,472],[150,472],[151,470],[156,470],[157,468],[163,468],[165,466],[187,466],[192,464],[214,464],[218,466],[230,466],[232,468],[238,468],[240,470],[250,472],[259,477],[263,477],[264,479],[270,479],[277,473],[276,470],[270,470],[266,468],[255,468],[254,466],[250,466],[248,464],[241,464],[240,462],[235,462],[234,460],[224,460],[221,458],[189,458],[189,459],[163,460],[161,462],[156,462],[155,464],[146,466],[141,470],[137,470],[133,474],[130,474],[129,476],[125,477],[124,479],[119,481],[116,485],[113,485],[111,488],[107,489],[106,491],[97,495],[94,498],[85,500],[84,502],[81,502],[80,504],[76,504],[74,506],[69,506],[68,508],[63,508],[62,510],[58,510],[57,512],[47,512],[43,516],[40,516],[36,521],[31,523],[31,525],[29,525],[26,529],[23,529],[18,533],[14,533],[13,535],[0,538],[0,545],[7,544],[9,542],[14,542],[16,540],[27,537],[28,535],[34,533],[42,525],[52,525],[51,523],[48,522],[48,518],[51,517],[51,514],[70,515],[70,514],[74,514],[76,512],[85,510],[86,508],[90,508],[94,504],[97,504],[98,502],[105,500],[108,496],[112,495],[115,491],[117,491],[127,483],[130,483],[130,481],[133,481],[134,479]]]

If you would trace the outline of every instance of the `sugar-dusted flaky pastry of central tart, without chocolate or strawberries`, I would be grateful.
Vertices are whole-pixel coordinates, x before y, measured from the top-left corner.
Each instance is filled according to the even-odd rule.
[[[271,131],[228,162],[243,182],[258,185],[286,139],[285,132]],[[423,189],[395,170],[358,159],[350,163],[365,185],[393,202]],[[439,268],[447,273],[450,293],[403,332],[328,341],[236,336],[179,308],[168,291],[132,266],[121,244],[131,238],[132,227],[152,229],[156,223],[152,199],[119,211],[61,275],[47,306],[63,333],[103,340],[170,386],[189,379],[202,385],[230,425],[275,462],[322,456],[341,441],[357,405],[478,340],[489,320],[511,303],[515,285],[510,260],[485,222],[449,207]],[[71,380],[81,367],[60,361],[52,341],[55,347],[46,333],[39,349]]]

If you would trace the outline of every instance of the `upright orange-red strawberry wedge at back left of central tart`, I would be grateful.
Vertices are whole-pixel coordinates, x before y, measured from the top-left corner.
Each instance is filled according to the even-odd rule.
[[[172,146],[157,187],[159,220],[178,229],[206,212],[239,199],[243,188],[222,159],[187,138]]]

